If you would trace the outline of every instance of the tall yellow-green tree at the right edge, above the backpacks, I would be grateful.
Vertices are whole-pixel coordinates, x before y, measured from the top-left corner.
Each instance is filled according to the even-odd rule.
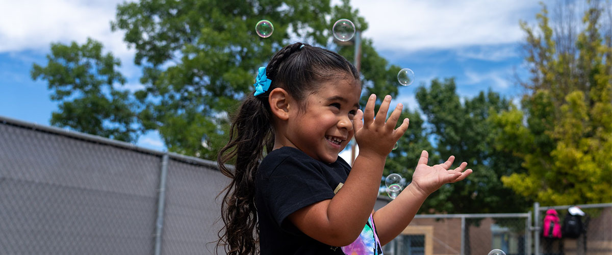
[[[536,29],[521,22],[531,73],[522,84],[522,109],[494,114],[490,120],[498,127],[496,149],[523,158],[526,169],[502,177],[502,182],[542,205],[612,201],[608,4],[588,2],[577,36],[562,29],[567,23],[551,25],[546,6],[537,15]]]

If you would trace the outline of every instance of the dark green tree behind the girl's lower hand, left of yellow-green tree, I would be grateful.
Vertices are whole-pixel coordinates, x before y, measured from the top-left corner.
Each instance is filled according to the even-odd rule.
[[[422,212],[501,213],[517,212],[528,201],[504,188],[501,177],[520,172],[520,158],[494,149],[489,117],[510,109],[511,103],[496,92],[476,97],[457,95],[455,80],[434,79],[427,88],[417,89],[416,98],[427,119],[427,136],[436,142],[438,162],[455,156],[455,167],[463,161],[474,170],[468,179],[444,185],[425,201]],[[436,162],[436,161],[433,161]]]

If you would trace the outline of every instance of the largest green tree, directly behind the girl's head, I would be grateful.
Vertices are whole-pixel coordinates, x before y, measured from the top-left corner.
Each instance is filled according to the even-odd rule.
[[[330,30],[337,18],[367,29],[348,0],[334,8],[330,1],[142,0],[120,4],[111,26],[125,32],[125,42],[136,50],[135,63],[143,67],[145,89],[135,93],[143,104],[138,114],[143,127],[159,130],[170,151],[214,158],[226,141],[228,116],[253,90],[257,68],[296,39],[334,47]],[[274,24],[271,37],[256,35],[261,19]],[[363,45],[363,62],[387,71],[371,42]],[[353,59],[354,45],[338,47]],[[368,89],[393,92],[381,89],[392,86],[379,82],[380,70],[364,71],[364,83],[372,84]]]

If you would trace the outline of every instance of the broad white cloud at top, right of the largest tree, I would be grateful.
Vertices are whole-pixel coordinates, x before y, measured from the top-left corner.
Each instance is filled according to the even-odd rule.
[[[396,51],[518,42],[524,36],[518,21],[532,20],[540,9],[536,1],[515,0],[353,0],[351,4],[368,21],[364,36],[373,38],[379,50]]]

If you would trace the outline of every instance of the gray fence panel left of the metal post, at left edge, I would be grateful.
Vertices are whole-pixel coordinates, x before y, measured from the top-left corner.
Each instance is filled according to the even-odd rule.
[[[151,254],[159,161],[0,123],[0,253]]]

